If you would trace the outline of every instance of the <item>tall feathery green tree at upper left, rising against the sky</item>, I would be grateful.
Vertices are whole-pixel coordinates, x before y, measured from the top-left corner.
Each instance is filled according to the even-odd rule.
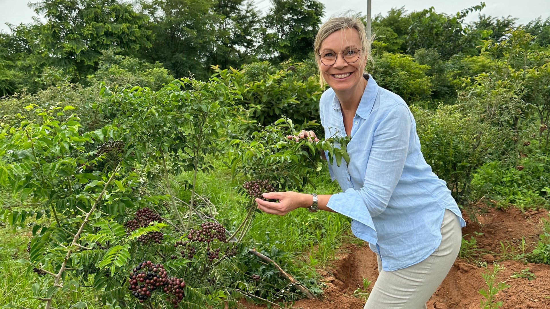
[[[116,46],[133,54],[150,47],[147,17],[117,0],[43,0],[31,4],[45,24],[38,27],[38,47],[33,52],[48,58],[77,78],[92,73],[101,50]]]

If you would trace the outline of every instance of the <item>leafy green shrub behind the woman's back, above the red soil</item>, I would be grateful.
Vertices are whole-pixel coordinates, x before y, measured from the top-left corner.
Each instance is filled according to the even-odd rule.
[[[426,162],[461,204],[466,204],[472,173],[499,153],[503,145],[495,141],[509,134],[480,121],[469,103],[440,105],[436,111],[411,108]]]

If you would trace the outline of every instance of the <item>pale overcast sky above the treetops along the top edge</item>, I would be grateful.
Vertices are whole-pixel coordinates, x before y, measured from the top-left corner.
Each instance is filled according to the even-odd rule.
[[[33,0],[36,1],[36,0]],[[253,0],[257,8],[267,12],[271,5],[270,0]],[[328,16],[352,9],[356,12],[367,12],[367,0],[321,0],[325,5],[325,18]],[[372,15],[382,13],[383,15],[391,8],[405,6],[409,12],[434,7],[437,12],[455,14],[461,9],[469,8],[480,4],[479,0],[372,0]],[[8,31],[5,23],[20,24],[30,23],[35,13],[27,6],[29,0],[0,0],[0,31]],[[491,16],[508,16],[518,18],[518,23],[526,24],[530,20],[542,16],[543,19],[550,17],[550,0],[486,0],[487,5],[481,13]],[[323,20],[324,20],[323,19]],[[470,14],[466,21],[477,19],[477,13]]]

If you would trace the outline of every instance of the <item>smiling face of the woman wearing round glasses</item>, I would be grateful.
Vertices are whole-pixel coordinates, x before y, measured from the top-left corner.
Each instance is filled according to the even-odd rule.
[[[348,63],[344,60],[344,52],[353,47],[359,50],[359,59],[354,63]],[[333,65],[325,65],[317,56],[318,64],[321,68],[324,80],[335,91],[345,91],[358,85],[363,79],[363,70],[365,69],[365,59],[361,51],[361,38],[359,32],[355,29],[346,28],[333,32],[321,43],[320,53],[333,51],[337,58]],[[349,53],[348,53],[349,54]]]

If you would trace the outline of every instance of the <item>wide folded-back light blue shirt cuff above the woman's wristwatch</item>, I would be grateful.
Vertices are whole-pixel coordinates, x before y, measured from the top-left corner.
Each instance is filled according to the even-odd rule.
[[[352,229],[355,236],[371,244],[377,243],[378,237],[376,235],[375,224],[372,222],[371,214],[368,212],[365,203],[359,196],[359,192],[355,189],[349,188],[345,190],[345,192],[333,194],[331,198],[328,199],[327,207],[346,217],[356,220],[357,223],[361,223],[361,225],[364,226],[364,229],[361,229],[360,236],[356,234],[356,230]]]

